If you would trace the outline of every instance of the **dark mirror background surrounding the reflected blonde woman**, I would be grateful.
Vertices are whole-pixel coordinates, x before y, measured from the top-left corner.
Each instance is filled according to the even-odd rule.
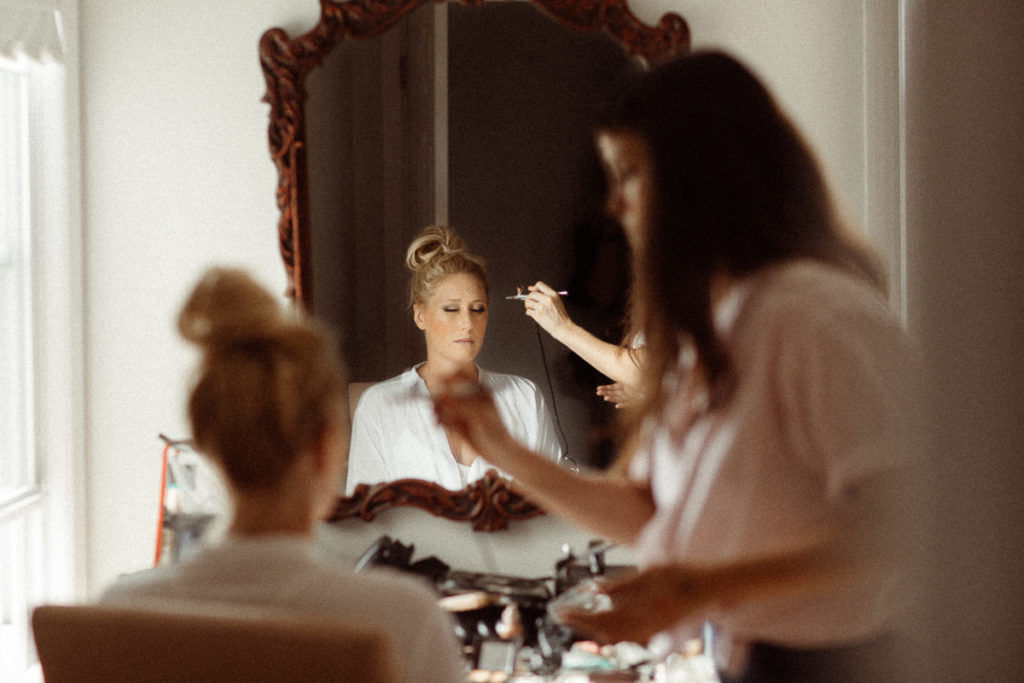
[[[404,252],[425,225],[450,225],[490,281],[489,341],[474,361],[531,380],[563,455],[605,464],[597,435],[614,411],[594,393],[605,380],[505,296],[543,280],[568,292],[581,326],[621,340],[626,249],[600,211],[590,121],[629,67],[604,33],[526,3],[484,3],[421,6],[373,40],[342,41],[310,72],[313,309],[341,332],[353,382],[401,377],[429,353]],[[397,476],[360,474],[357,459],[349,492]]]

